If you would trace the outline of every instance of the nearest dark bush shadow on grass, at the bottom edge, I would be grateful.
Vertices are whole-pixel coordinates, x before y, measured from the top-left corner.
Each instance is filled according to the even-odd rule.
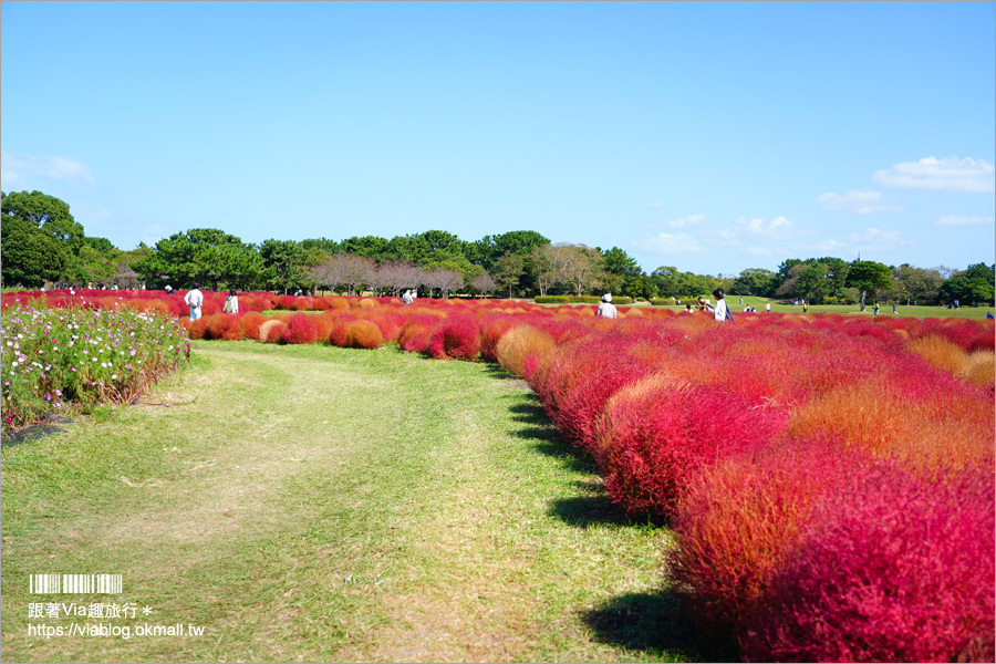
[[[601,643],[619,645],[654,656],[692,662],[739,662],[737,647],[723,639],[705,637],[671,591],[627,593],[581,619]]]

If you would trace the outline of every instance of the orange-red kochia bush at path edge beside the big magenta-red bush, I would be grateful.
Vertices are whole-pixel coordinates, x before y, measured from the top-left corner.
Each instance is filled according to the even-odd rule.
[[[671,577],[695,622],[737,635],[817,501],[871,461],[828,437],[765,446],[694,479],[672,523]]]

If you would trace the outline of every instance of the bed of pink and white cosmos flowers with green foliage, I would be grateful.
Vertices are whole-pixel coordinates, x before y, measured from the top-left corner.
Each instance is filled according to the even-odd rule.
[[[133,401],[190,355],[179,320],[154,311],[12,302],[2,319],[3,427]]]

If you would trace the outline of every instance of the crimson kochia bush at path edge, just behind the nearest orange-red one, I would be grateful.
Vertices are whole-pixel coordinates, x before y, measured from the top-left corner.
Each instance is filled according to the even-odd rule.
[[[672,518],[706,468],[769,444],[785,428],[784,412],[753,408],[738,394],[696,385],[643,390],[642,382],[605,405],[595,447],[606,491],[631,513]]]

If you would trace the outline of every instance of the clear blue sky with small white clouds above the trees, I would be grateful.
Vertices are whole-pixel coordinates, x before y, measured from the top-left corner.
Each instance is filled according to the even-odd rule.
[[[994,262],[993,2],[10,2],[0,184],[121,249],[536,230]]]

